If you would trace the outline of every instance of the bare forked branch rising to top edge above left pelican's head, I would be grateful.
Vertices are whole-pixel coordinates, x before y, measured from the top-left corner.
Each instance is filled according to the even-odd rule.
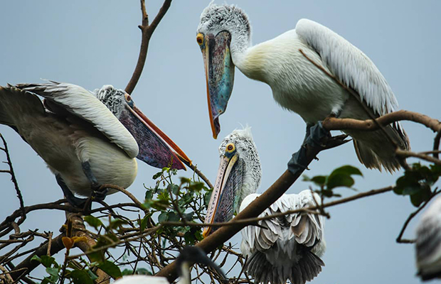
[[[141,0],[142,26],[139,26],[142,33],[141,48],[139,50],[137,66],[134,69],[129,84],[127,84],[127,87],[125,88],[125,91],[128,94],[132,94],[134,87],[136,87],[139,81],[139,77],[141,77],[141,73],[142,70],[144,69],[144,64],[147,59],[147,50],[149,50],[150,38],[152,38],[152,34],[156,29],[156,26],[158,26],[159,22],[162,20],[162,18],[164,18],[164,15],[169,10],[170,4],[171,4],[171,0],[164,1],[164,4],[162,4],[162,7],[161,9],[159,9],[159,12],[154,18],[152,24],[149,26],[149,16],[147,16],[145,3],[144,0]]]

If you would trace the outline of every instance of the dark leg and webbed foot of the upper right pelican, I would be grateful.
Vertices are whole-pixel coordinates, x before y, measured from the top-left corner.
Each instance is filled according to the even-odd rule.
[[[321,141],[323,138],[329,138],[331,133],[323,128],[322,121],[311,126],[307,124],[307,133],[300,150],[292,154],[291,160],[288,162],[288,170],[295,175],[299,170],[307,169],[307,145],[312,147],[324,146]]]

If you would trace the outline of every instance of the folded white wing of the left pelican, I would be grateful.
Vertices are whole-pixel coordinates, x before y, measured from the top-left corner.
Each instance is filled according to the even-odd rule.
[[[130,158],[138,155],[138,144],[132,134],[112,114],[112,111],[87,89],[75,84],[53,81],[46,84],[17,84],[17,87],[38,94],[63,107],[71,114],[90,122],[110,141],[122,148]]]

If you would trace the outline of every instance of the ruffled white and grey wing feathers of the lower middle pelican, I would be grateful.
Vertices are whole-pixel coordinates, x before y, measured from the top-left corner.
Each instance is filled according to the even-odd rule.
[[[314,195],[316,195],[316,200],[319,202],[318,195]],[[253,194],[245,197],[240,205],[240,210],[247,207],[258,196]],[[309,190],[304,190],[299,195],[282,195],[279,200],[265,209],[259,217],[315,205],[312,193]],[[245,255],[250,255],[255,251],[266,251],[279,239],[285,242],[295,238],[298,244],[309,247],[315,246],[324,239],[324,219],[317,214],[287,214],[285,217],[262,220],[259,224],[267,229],[259,226],[246,226],[241,231],[243,241],[240,249]],[[324,248],[319,249],[319,253],[323,251]]]

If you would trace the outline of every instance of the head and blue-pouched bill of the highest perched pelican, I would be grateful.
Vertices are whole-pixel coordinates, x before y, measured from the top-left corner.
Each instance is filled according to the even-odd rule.
[[[221,131],[219,116],[227,109],[233,91],[234,53],[250,46],[248,16],[236,6],[211,3],[203,10],[196,41],[206,73],[208,111],[213,138]]]

